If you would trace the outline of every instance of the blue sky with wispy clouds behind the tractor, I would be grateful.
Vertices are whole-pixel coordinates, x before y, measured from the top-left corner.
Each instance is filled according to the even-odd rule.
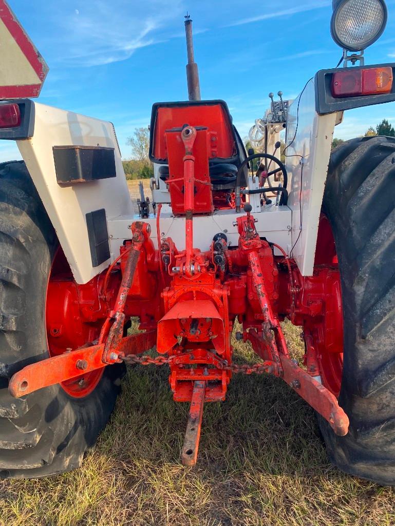
[[[202,98],[228,102],[240,134],[264,114],[268,93],[295,97],[318,69],[334,67],[341,49],[330,36],[331,0],[9,0],[50,66],[43,104],[111,120],[122,155],[126,138],[149,124],[151,105],[184,100],[184,14],[193,18]],[[366,63],[395,62],[395,0],[381,39]],[[0,57],[1,60],[1,57]],[[352,110],[335,135],[362,135],[388,118],[395,104]],[[17,157],[0,143],[0,161]]]

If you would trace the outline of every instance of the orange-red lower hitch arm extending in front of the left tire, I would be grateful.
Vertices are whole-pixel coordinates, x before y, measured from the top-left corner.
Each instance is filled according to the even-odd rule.
[[[152,349],[155,344],[156,330],[151,330],[122,338],[116,350],[124,356],[139,355]],[[107,363],[103,361],[103,351],[104,343],[100,343],[32,363],[11,378],[9,393],[15,398],[21,398],[43,387],[53,386],[105,367]]]

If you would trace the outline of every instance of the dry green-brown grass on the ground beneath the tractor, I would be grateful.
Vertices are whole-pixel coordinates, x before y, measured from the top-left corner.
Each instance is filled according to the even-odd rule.
[[[285,324],[295,357],[299,331]],[[255,361],[233,341],[237,361]],[[188,404],[172,400],[168,369],[134,366],[110,424],[82,468],[0,484],[3,526],[389,526],[391,488],[331,466],[311,408],[285,383],[237,375],[204,408],[199,458],[180,452]]]

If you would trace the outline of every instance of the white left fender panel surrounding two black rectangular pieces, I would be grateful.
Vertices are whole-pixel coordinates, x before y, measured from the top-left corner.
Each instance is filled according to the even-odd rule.
[[[73,112],[35,104],[31,139],[17,145],[54,225],[77,283],[83,284],[108,267],[110,260],[92,267],[85,214],[105,208],[107,221],[132,213],[132,203],[111,123]],[[57,184],[53,146],[115,148],[116,177],[69,187]]]

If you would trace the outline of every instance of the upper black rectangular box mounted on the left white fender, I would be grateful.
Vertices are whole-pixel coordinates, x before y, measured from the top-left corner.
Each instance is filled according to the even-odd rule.
[[[73,185],[116,177],[114,148],[103,146],[54,146],[56,180]]]

